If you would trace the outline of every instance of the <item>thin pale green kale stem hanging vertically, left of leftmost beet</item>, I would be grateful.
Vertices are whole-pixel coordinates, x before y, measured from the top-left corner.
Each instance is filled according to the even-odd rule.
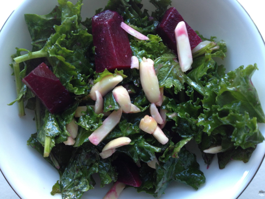
[[[15,75],[16,93],[17,93],[17,96],[19,96],[20,90],[22,88],[19,63],[13,62],[13,70],[14,70],[14,75]],[[19,109],[18,109],[19,116],[21,117],[25,115],[24,101],[23,100],[18,101],[18,106],[19,106]]]

